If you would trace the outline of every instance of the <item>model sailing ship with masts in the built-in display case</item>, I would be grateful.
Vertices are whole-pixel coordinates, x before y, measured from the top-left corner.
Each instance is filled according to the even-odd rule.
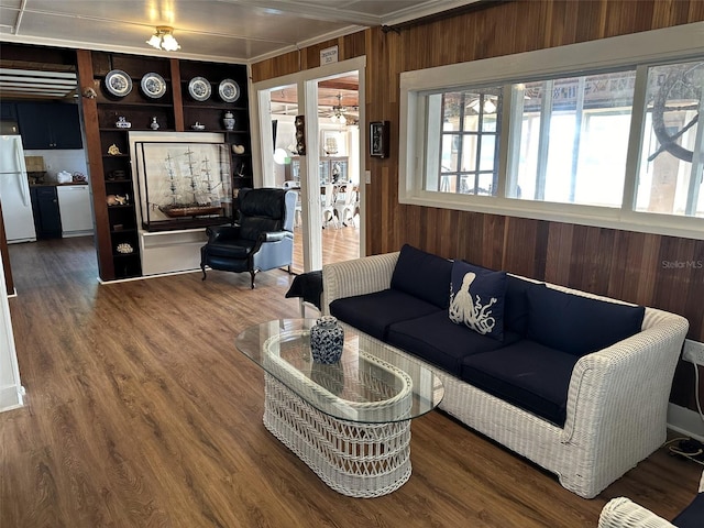
[[[221,183],[212,180],[210,161],[208,157],[196,160],[190,147],[184,155],[180,172],[174,168],[175,161],[170,154],[164,160],[170,204],[160,205],[158,210],[168,218],[221,215],[222,206],[217,193]]]

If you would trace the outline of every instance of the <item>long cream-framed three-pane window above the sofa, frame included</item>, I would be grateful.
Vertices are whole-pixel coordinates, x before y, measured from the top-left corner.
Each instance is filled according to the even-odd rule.
[[[704,238],[702,31],[402,74],[400,201]]]

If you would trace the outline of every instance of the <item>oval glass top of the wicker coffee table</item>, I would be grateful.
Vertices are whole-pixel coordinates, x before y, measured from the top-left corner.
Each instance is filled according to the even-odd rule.
[[[421,363],[344,326],[339,362],[312,361],[315,319],[278,319],[244,330],[237,348],[316,409],[333,418],[387,424],[417,418],[442,400],[442,382]]]

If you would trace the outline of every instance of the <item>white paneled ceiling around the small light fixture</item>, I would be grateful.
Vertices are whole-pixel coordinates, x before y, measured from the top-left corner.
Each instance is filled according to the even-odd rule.
[[[0,41],[254,63],[479,0],[0,0]],[[170,25],[179,52],[145,41]]]

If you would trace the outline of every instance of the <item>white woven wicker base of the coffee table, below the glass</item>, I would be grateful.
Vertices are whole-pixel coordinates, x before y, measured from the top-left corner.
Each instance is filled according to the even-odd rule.
[[[410,420],[339,420],[270,374],[264,378],[264,426],[332,490],[351,497],[378,497],[410,477]]]

